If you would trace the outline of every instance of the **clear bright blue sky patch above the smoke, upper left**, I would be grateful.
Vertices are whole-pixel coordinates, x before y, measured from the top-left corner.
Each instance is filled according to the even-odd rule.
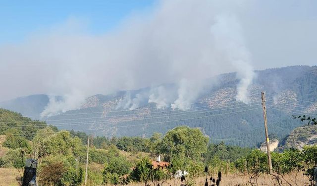
[[[1,0],[0,43],[19,43],[33,32],[64,23],[69,17],[103,34],[133,13],[150,11],[154,0]]]

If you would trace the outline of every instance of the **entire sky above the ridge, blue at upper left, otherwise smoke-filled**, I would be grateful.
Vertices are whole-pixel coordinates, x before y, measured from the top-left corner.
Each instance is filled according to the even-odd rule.
[[[0,101],[74,102],[231,71],[248,84],[253,69],[316,65],[316,10],[316,0],[1,0]]]

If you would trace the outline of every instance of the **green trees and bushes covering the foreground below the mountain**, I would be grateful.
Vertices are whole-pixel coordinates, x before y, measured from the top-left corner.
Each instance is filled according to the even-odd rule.
[[[0,168],[23,170],[25,160],[33,158],[39,162],[38,182],[41,186],[83,183],[86,133],[57,130],[44,122],[32,121],[4,109],[0,109],[0,119]],[[88,183],[156,186],[173,178],[179,170],[188,172],[188,185],[191,185],[191,179],[203,176],[207,169],[210,175],[218,172],[269,174],[264,152],[211,141],[200,128],[188,126],[177,126],[164,135],[154,133],[150,138],[90,136]],[[163,167],[153,165],[158,155],[167,162]],[[273,171],[278,174],[304,171],[312,180],[317,147],[272,152],[272,164]]]

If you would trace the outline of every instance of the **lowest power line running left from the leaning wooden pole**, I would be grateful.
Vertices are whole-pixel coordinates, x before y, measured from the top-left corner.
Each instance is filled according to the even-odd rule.
[[[110,127],[103,127],[103,128],[94,128],[94,129],[84,129],[84,130],[72,130],[72,131],[86,131],[86,130],[101,130],[101,129],[107,129],[107,128],[123,128],[123,127],[133,127],[133,126],[142,126],[142,125],[151,125],[151,124],[162,124],[162,123],[168,123],[168,122],[181,122],[186,120],[194,120],[194,119],[201,119],[201,118],[208,118],[208,117],[214,117],[214,116],[221,116],[221,115],[227,115],[227,114],[234,114],[234,113],[240,113],[240,112],[246,112],[251,110],[256,110],[259,108],[254,109],[248,109],[243,111],[235,111],[230,113],[223,113],[223,114],[216,114],[216,115],[210,115],[210,116],[203,116],[203,117],[196,117],[196,118],[187,118],[187,119],[180,119],[180,120],[171,120],[171,121],[164,121],[164,122],[155,122],[155,123],[147,123],[147,124],[134,124],[134,125],[123,125],[123,126],[110,126]],[[38,134],[48,134],[48,133],[55,133],[55,132],[42,132]],[[13,135],[31,135],[31,134],[37,134],[37,133],[23,133],[23,134],[5,134],[4,136],[13,136]]]

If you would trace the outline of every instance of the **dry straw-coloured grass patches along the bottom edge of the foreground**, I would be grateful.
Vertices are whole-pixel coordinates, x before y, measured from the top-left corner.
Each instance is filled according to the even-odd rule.
[[[18,186],[17,178],[19,177],[19,172],[15,169],[0,169],[0,186]],[[283,181],[283,186],[305,186],[308,183],[307,177],[304,177],[302,173],[292,173],[285,175],[284,178],[289,183]],[[195,186],[204,186],[205,179],[203,177],[190,179],[186,178],[190,183]],[[257,180],[251,181],[253,186],[279,186],[272,176],[260,176]],[[150,183],[154,186],[153,183]],[[168,180],[165,182],[159,182],[160,186],[180,186],[182,183],[179,179]],[[184,183],[183,183],[184,184]],[[223,175],[221,179],[221,186],[252,186],[250,184],[250,179],[248,175]],[[129,186],[141,186],[141,184],[129,184]]]

